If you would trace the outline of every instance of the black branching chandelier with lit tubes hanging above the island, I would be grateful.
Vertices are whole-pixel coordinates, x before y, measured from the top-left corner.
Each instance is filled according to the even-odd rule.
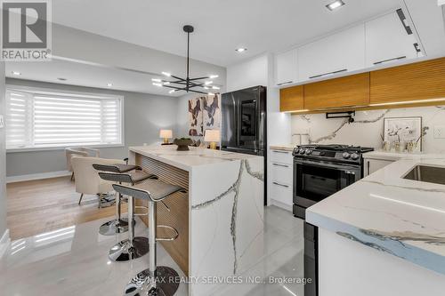
[[[218,77],[217,75],[190,78],[190,33],[194,31],[194,28],[190,25],[186,25],[183,27],[183,30],[185,33],[187,33],[187,76],[185,78],[182,78],[180,76],[174,76],[171,73],[162,72],[162,75],[171,77],[173,79],[165,80],[161,78],[153,78],[151,79],[151,81],[155,86],[172,89],[170,93],[185,91],[214,94],[212,92],[206,92],[206,90],[219,90],[219,87],[212,85],[213,81],[207,80],[205,82],[202,82],[202,80],[214,79]]]

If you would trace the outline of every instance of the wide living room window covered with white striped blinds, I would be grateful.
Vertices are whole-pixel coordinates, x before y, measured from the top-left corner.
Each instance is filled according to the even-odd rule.
[[[122,98],[6,91],[6,148],[122,144]]]

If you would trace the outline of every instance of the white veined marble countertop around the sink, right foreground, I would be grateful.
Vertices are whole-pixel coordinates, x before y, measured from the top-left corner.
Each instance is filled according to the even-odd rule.
[[[410,158],[313,205],[306,220],[445,274],[445,186],[403,179],[417,164],[445,167],[445,156]]]

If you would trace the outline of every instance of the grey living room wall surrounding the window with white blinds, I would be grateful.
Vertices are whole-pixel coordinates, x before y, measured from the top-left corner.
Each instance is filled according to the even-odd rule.
[[[64,84],[49,84],[20,79],[6,79],[7,84],[34,86],[74,92],[99,92],[125,97],[125,146],[101,148],[101,156],[125,158],[128,147],[143,143],[155,143],[160,129],[176,131],[178,100],[174,97],[151,95],[138,92],[116,92],[90,87]],[[33,152],[8,152],[6,154],[6,174],[8,177],[42,172],[66,170],[65,151],[47,150]]]

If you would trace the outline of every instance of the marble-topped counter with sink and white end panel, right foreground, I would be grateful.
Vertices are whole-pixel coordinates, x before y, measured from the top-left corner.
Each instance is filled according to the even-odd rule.
[[[320,296],[443,295],[445,185],[404,178],[417,165],[445,167],[445,157],[398,160],[307,209]]]

